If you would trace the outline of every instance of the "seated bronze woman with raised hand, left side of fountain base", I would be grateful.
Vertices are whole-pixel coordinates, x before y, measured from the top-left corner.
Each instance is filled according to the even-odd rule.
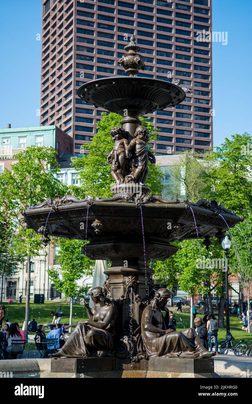
[[[85,303],[89,320],[78,322],[74,331],[68,334],[66,339],[64,337],[66,341],[64,346],[53,354],[53,357],[75,358],[113,355],[116,306],[106,297],[107,292],[103,288],[93,288],[89,295],[94,302],[92,310],[88,303]]]

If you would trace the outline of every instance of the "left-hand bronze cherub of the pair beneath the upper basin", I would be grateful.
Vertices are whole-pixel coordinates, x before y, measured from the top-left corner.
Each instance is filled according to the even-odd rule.
[[[115,126],[110,131],[110,135],[114,140],[114,147],[108,155],[107,162],[111,164],[111,175],[116,181],[116,184],[124,183],[126,175],[126,147],[129,145],[127,133],[121,126]]]

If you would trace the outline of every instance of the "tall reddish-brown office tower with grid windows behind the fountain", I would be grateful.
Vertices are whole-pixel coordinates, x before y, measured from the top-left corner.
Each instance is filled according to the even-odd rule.
[[[149,114],[161,129],[157,155],[212,146],[212,0],[43,0],[41,125],[73,133],[74,154],[90,141],[102,109],[85,104],[77,88],[123,75],[117,61],[132,34],[145,70],[139,77],[173,81],[191,90],[176,108]]]

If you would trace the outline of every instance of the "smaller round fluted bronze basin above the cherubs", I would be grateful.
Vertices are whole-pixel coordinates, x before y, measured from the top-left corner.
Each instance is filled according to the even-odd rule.
[[[96,108],[124,115],[125,109],[142,115],[184,101],[185,92],[170,82],[152,78],[116,76],[89,81],[78,88],[78,96]]]

